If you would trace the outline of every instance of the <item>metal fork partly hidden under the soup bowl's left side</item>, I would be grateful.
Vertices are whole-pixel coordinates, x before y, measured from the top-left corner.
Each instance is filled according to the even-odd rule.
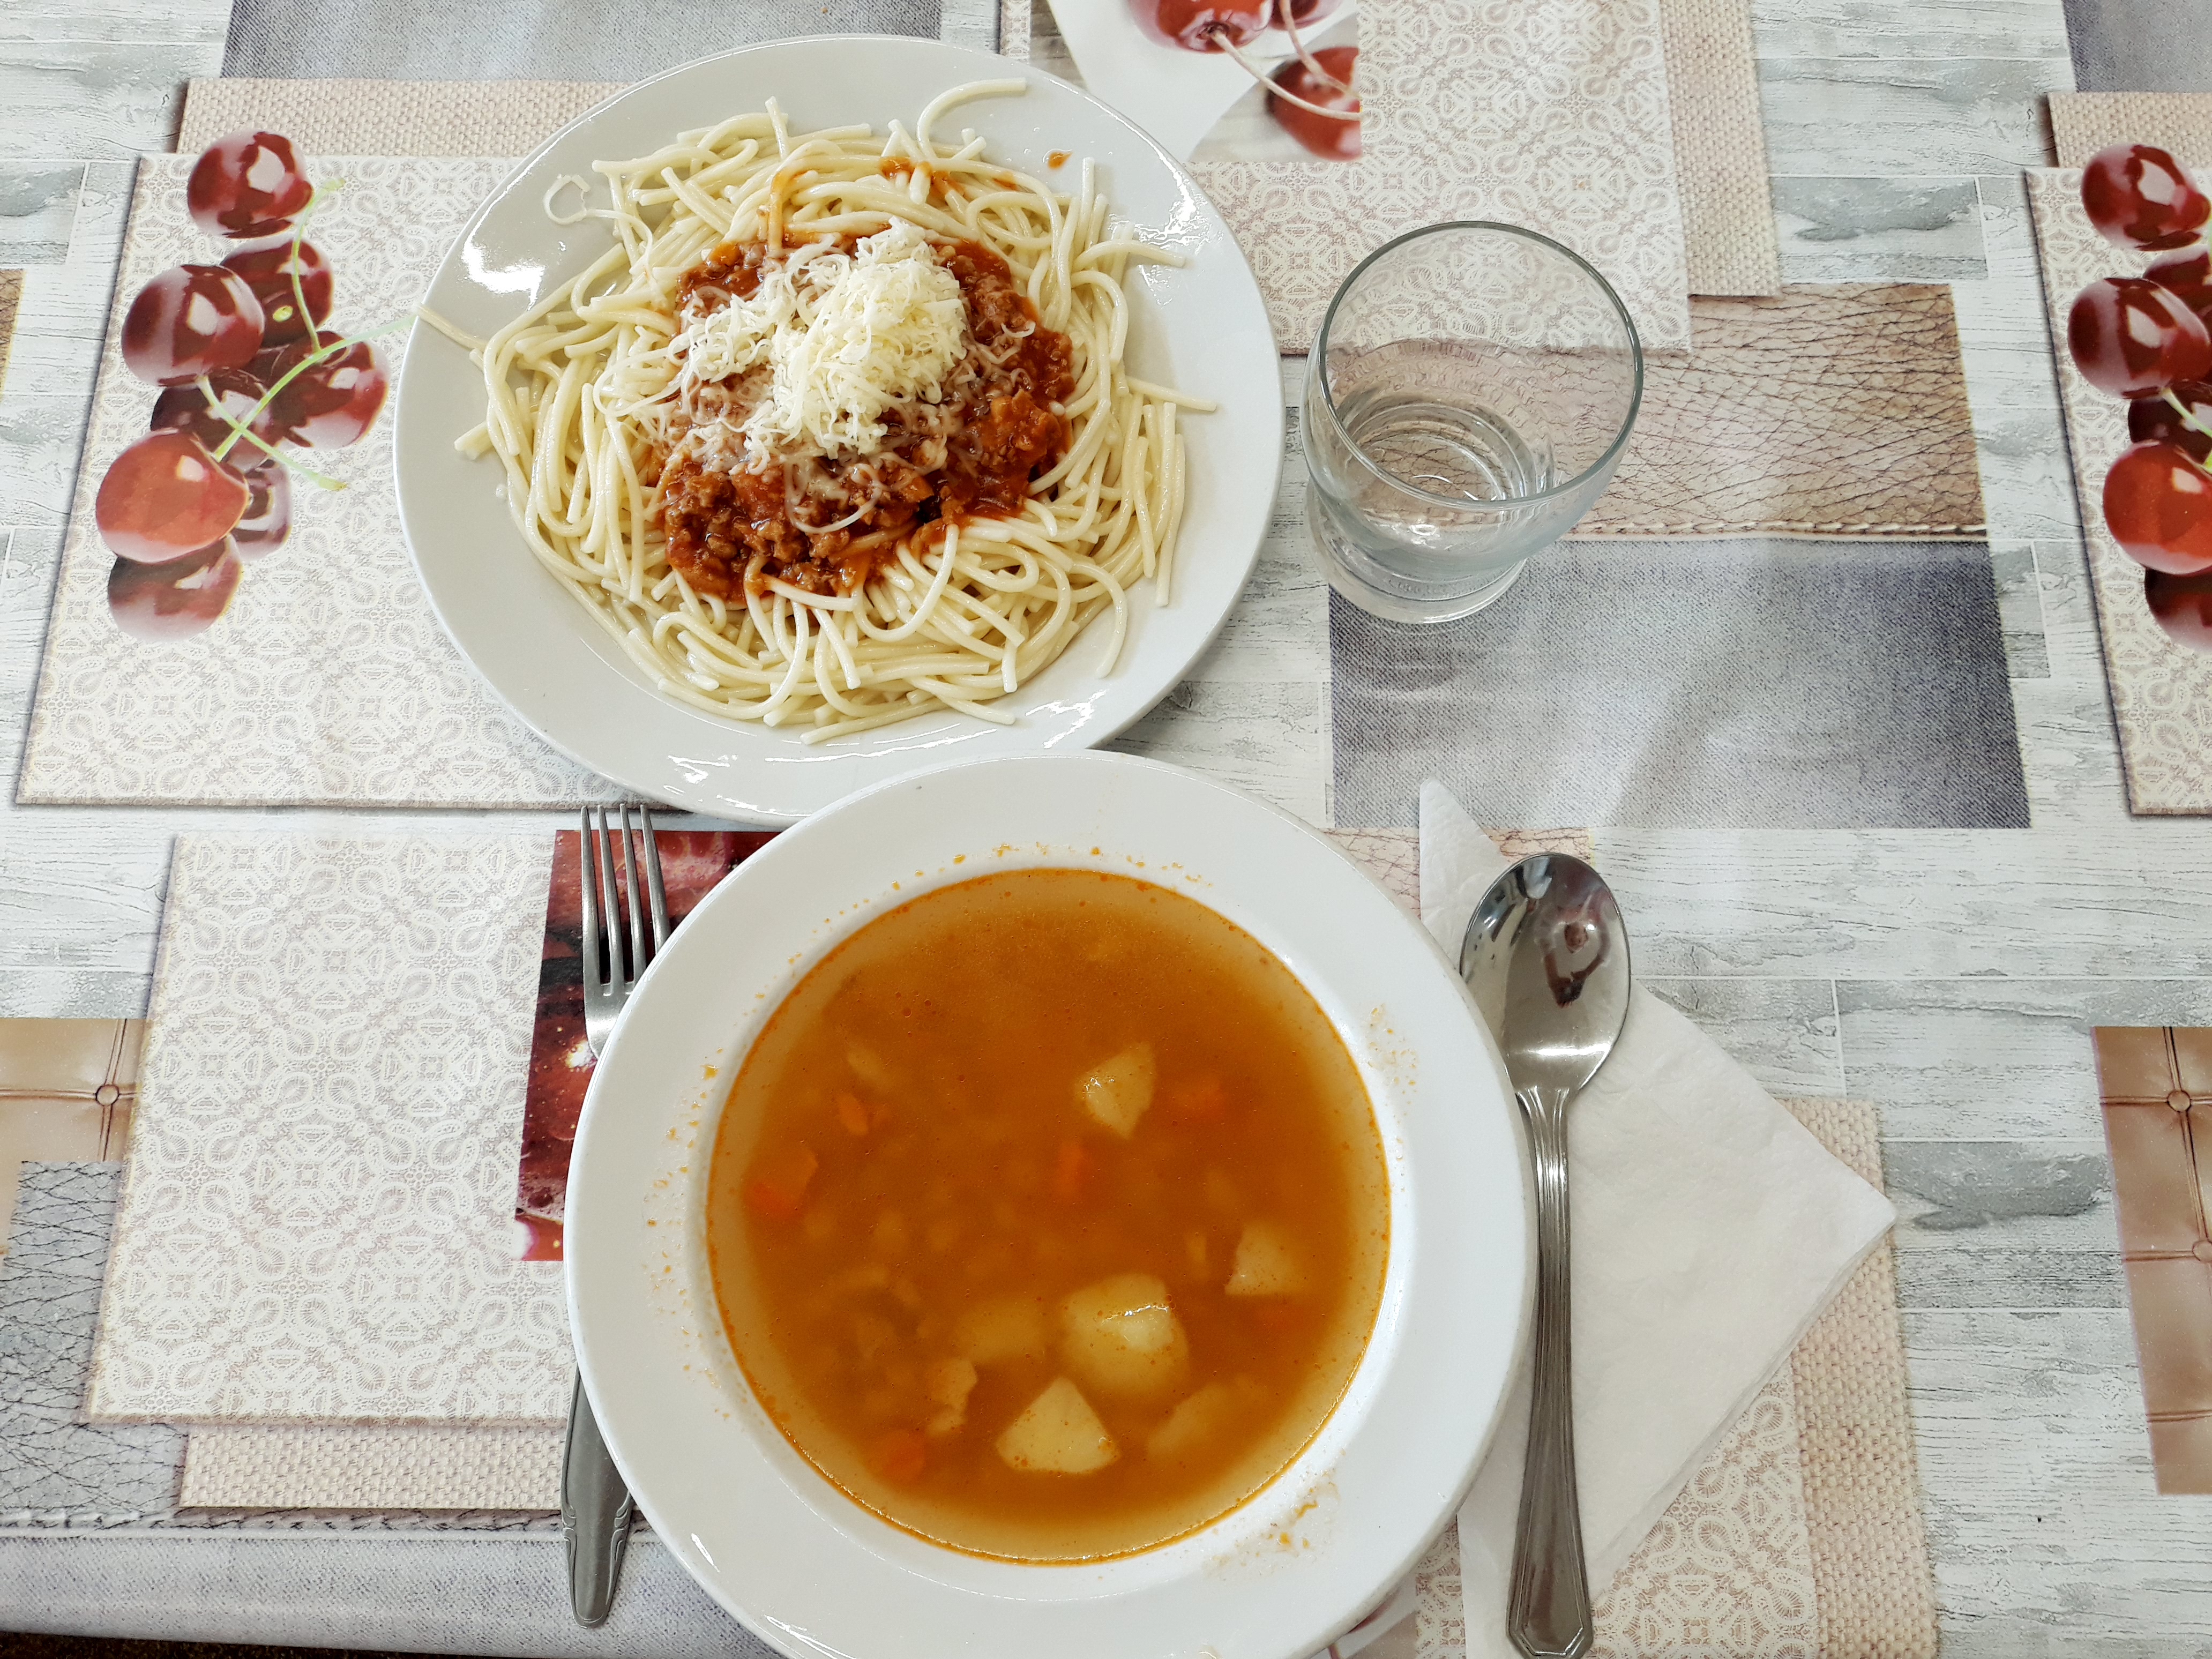
[[[637,975],[646,971],[646,916],[637,902],[637,843],[630,841],[630,810],[624,805],[622,825],[622,887],[630,916],[628,960],[622,951],[622,905],[615,902],[615,847],[608,841],[606,807],[584,807],[582,867],[577,872],[584,889],[584,1042],[597,1057],[622,1004],[630,1000]],[[668,942],[668,894],[661,887],[661,849],[653,841],[653,814],[639,805],[639,841],[644,843],[646,894],[653,905],[653,953]],[[593,891],[597,889],[597,891]],[[599,960],[599,918],[606,918],[606,960]],[[606,1624],[615,1608],[615,1584],[622,1577],[622,1553],[630,1544],[630,1522],[635,1520],[630,1489],[615,1469],[599,1436],[599,1420],[591,1413],[591,1398],[584,1394],[584,1376],[575,1378],[575,1394],[568,1396],[568,1444],[562,1451],[560,1469],[560,1531],[568,1544],[568,1604],[575,1621],[591,1628]]]

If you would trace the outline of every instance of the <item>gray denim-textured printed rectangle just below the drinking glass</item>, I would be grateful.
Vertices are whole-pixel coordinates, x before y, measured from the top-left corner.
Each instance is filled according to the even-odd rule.
[[[2026,827],[1986,546],[1562,544],[1464,622],[1329,606],[1336,821]]]

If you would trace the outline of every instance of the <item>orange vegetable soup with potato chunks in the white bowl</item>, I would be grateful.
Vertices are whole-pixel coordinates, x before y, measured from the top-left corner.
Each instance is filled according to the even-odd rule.
[[[801,980],[714,1141],[754,1396],[885,1520],[1095,1559],[1281,1473],[1374,1329],[1389,1188],[1352,1055],[1250,933],[1024,869]]]

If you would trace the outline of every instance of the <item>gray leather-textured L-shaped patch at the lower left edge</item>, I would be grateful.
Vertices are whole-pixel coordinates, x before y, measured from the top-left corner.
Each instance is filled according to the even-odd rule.
[[[184,1436],[77,1422],[122,1164],[27,1164],[0,1256],[0,1526],[113,1526],[177,1504]]]

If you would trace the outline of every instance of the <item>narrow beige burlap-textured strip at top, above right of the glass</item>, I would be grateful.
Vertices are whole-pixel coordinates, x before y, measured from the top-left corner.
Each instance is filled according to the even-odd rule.
[[[1778,294],[1750,0],[1659,0],[1692,294]],[[1690,332],[1699,319],[1692,314]]]

